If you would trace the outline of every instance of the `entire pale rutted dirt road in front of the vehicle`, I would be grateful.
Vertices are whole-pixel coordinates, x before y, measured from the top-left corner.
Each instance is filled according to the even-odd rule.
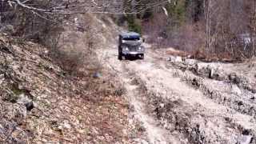
[[[146,138],[134,143],[255,143],[252,91],[184,70],[149,47],[145,60],[119,61],[116,46],[99,53],[126,88],[131,118],[145,128]]]

